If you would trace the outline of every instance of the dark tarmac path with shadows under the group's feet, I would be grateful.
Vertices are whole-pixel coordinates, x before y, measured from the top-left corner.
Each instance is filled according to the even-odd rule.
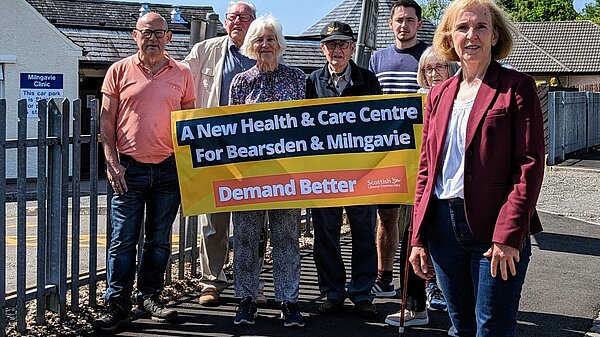
[[[541,213],[545,231],[533,240],[533,256],[523,290],[519,312],[518,336],[583,336],[589,331],[600,307],[600,225],[567,217]],[[344,241],[343,253],[350,254],[350,243]],[[398,273],[398,270],[396,270]],[[267,294],[272,297],[270,270],[265,269]],[[132,322],[130,331],[118,336],[398,336],[395,327],[386,326],[385,314],[399,308],[399,299],[376,300],[380,317],[364,322],[350,310],[335,317],[317,315],[321,298],[317,289],[312,255],[302,257],[300,306],[309,316],[304,329],[284,328],[274,303],[260,309],[254,327],[234,326],[236,300],[231,289],[224,295],[226,303],[219,308],[203,308],[195,297],[177,303],[181,315],[177,325],[156,324],[149,320]],[[446,336],[450,323],[445,313],[430,312],[426,327],[408,328],[405,336]]]

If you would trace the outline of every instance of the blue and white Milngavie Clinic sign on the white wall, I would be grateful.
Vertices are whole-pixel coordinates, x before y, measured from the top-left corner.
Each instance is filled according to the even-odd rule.
[[[21,98],[27,99],[27,117],[37,117],[37,101],[63,98],[62,74],[21,73]]]

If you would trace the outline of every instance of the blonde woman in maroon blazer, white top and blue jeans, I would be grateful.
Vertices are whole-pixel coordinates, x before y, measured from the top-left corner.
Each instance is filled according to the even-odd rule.
[[[534,80],[501,67],[514,26],[493,0],[456,0],[433,47],[461,73],[433,87],[425,121],[410,262],[433,262],[458,336],[513,336],[544,172]]]

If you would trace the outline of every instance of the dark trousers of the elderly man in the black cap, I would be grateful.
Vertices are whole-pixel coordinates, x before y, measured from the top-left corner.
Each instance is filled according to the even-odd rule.
[[[352,232],[352,272],[347,287],[340,249],[344,208]],[[371,288],[377,277],[375,206],[316,208],[312,210],[312,216],[315,228],[314,259],[321,294],[338,301],[346,298],[353,303],[371,301]]]

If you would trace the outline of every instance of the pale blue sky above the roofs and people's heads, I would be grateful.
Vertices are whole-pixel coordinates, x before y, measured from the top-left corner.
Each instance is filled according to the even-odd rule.
[[[121,0],[122,1],[122,0]],[[212,6],[223,22],[229,0],[145,0],[158,4]],[[297,36],[322,19],[342,0],[249,0],[256,5],[258,15],[271,13],[281,21],[283,34]],[[144,2],[144,0],[135,1]],[[422,2],[422,1],[421,1]],[[574,0],[573,5],[580,11],[586,3],[593,0]],[[152,5],[150,5],[152,9]]]

